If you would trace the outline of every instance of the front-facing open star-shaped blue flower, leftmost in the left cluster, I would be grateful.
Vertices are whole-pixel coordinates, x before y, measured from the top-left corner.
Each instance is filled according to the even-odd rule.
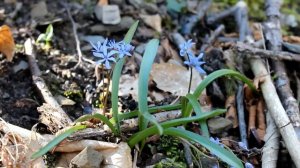
[[[106,39],[102,45],[97,44],[97,48],[94,50],[93,55],[100,58],[98,61],[96,61],[97,65],[104,64],[106,69],[110,69],[110,62],[116,62],[116,59],[113,56],[118,52],[115,50],[108,51],[107,49],[108,47]]]

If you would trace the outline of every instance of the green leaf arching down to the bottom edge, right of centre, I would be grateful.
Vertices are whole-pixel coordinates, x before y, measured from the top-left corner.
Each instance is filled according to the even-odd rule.
[[[189,141],[197,142],[210,150],[211,153],[218,156],[222,161],[228,163],[230,166],[243,168],[243,163],[241,162],[241,160],[232,152],[229,152],[228,150],[220,147],[219,145],[211,142],[209,139],[204,138],[198,134],[180,128],[167,128],[164,130],[164,133],[167,135],[178,136]]]

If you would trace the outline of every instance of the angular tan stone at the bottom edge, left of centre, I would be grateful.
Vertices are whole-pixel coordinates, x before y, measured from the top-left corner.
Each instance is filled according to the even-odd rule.
[[[88,146],[71,160],[69,167],[99,168],[102,160],[102,154]]]

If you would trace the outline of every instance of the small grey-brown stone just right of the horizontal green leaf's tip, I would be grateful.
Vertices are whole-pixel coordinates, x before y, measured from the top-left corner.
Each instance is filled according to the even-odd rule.
[[[232,128],[232,121],[223,117],[211,118],[207,123],[212,134],[219,134]]]

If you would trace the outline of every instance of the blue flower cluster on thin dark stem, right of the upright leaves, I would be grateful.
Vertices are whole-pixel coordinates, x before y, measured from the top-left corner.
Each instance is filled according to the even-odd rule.
[[[195,43],[192,42],[192,40],[188,40],[187,42],[184,42],[180,44],[180,56],[188,56],[188,61],[184,61],[184,64],[194,67],[200,74],[206,74],[206,72],[202,69],[201,65],[205,64],[204,61],[201,61],[201,59],[204,56],[203,52],[200,52],[198,56],[195,56],[194,53],[192,52],[191,48]]]

